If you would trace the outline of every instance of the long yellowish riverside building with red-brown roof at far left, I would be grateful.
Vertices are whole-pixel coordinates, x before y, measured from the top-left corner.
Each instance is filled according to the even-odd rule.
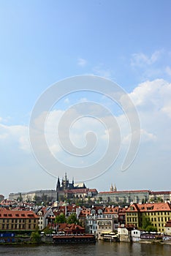
[[[38,220],[34,211],[0,208],[0,231],[32,231],[38,226]]]

